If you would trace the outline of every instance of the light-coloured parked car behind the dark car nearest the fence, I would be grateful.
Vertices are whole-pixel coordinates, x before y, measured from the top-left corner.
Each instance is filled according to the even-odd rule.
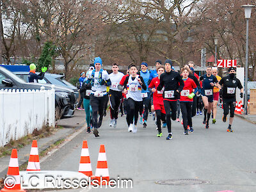
[[[20,77],[20,79],[23,79],[25,82],[28,83],[28,74],[29,72],[24,72],[24,71],[20,71],[20,72],[13,72],[13,74],[15,74],[16,76]],[[39,72],[36,72],[36,74],[40,74]],[[38,83],[49,83],[49,84],[55,84],[57,86],[64,86],[66,88],[69,88],[71,90],[74,91],[76,99],[78,99],[79,97],[79,93],[78,90],[76,88],[76,86],[74,86],[71,83],[68,83],[68,81],[65,81],[64,79],[65,76],[63,75],[59,75],[59,74],[49,74],[49,73],[45,73],[44,74],[44,79],[39,79]]]

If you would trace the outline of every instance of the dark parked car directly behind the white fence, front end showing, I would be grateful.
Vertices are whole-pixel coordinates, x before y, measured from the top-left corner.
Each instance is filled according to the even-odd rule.
[[[50,84],[26,83],[6,68],[0,67],[0,90],[2,88],[40,90],[41,86],[44,86],[45,90],[52,89]],[[74,91],[63,86],[55,86],[54,89],[56,118],[74,116],[74,106],[76,102]]]

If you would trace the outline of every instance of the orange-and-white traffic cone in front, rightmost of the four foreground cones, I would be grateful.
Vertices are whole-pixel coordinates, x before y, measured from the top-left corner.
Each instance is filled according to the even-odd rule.
[[[99,181],[99,184],[100,184],[100,177],[102,177],[102,184],[105,184],[105,185],[108,184],[109,172],[108,172],[108,163],[107,163],[107,157],[106,157],[104,145],[100,145],[98,163],[97,163],[97,168],[95,172],[95,179]]]

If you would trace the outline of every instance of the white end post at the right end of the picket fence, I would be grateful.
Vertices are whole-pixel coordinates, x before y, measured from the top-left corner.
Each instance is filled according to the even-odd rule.
[[[49,127],[54,127],[55,126],[55,86],[52,84],[52,89],[48,91],[48,96],[49,96]]]

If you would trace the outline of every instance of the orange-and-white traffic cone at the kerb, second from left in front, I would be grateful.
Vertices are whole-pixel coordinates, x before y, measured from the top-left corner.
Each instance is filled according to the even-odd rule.
[[[33,140],[28,159],[27,171],[40,171],[40,162],[38,156],[38,148],[36,140]]]

